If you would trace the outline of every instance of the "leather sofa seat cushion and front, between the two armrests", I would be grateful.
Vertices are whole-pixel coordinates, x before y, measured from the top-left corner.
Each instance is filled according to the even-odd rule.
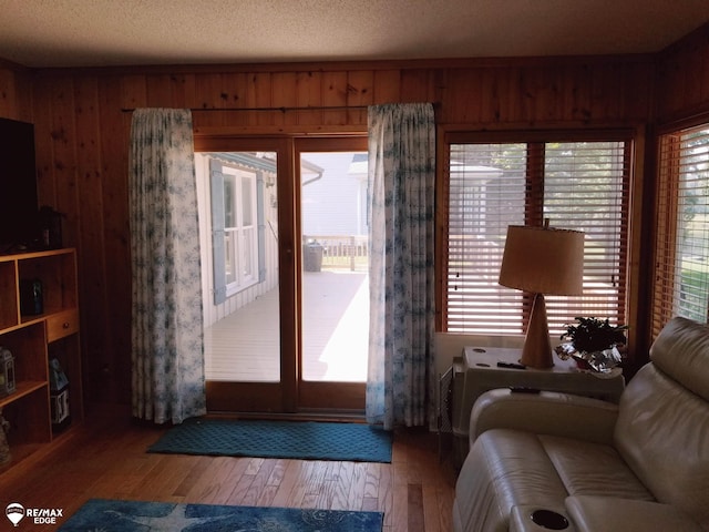
[[[569,494],[654,500],[610,446],[571,438],[487,430],[463,469],[455,488],[462,530],[506,531],[513,507],[563,512]]]

